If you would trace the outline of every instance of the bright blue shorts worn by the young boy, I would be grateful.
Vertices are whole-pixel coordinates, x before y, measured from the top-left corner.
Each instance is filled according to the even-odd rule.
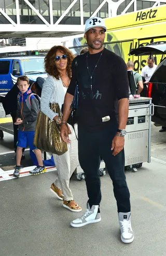
[[[21,131],[18,130],[18,141],[17,146],[26,148],[29,145],[31,150],[37,149],[33,144],[35,131]]]

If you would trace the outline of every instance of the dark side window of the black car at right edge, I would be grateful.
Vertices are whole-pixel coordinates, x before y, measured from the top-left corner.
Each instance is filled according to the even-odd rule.
[[[158,83],[165,83],[166,82],[166,59],[162,63],[161,66],[156,68],[153,77],[150,79],[150,82],[158,82]]]

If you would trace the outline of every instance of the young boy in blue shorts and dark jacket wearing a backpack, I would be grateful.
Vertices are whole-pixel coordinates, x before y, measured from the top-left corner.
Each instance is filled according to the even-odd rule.
[[[20,90],[20,100],[18,102],[17,119],[15,123],[15,125],[18,125],[18,142],[16,151],[16,168],[13,176],[19,178],[21,169],[22,149],[26,148],[27,144],[29,144],[30,149],[34,151],[38,161],[38,166],[36,166],[33,170],[30,170],[30,173],[34,175],[39,173],[45,173],[46,168],[43,164],[41,151],[39,149],[36,149],[33,144],[36,119],[39,112],[39,102],[34,95],[31,95],[31,97],[27,99],[27,96],[31,93],[28,77],[18,77],[17,86]],[[30,108],[27,106],[26,100],[30,100]]]

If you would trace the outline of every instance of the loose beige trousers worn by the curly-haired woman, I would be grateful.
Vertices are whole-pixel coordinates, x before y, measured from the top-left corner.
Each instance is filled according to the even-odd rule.
[[[63,155],[53,154],[53,159],[57,167],[58,177],[54,181],[54,185],[62,190],[64,200],[73,200],[73,194],[69,187],[70,178],[78,165],[78,141],[74,129],[69,125],[72,133],[69,135],[71,140],[70,144],[67,144],[68,150]],[[76,134],[77,125],[74,126]]]

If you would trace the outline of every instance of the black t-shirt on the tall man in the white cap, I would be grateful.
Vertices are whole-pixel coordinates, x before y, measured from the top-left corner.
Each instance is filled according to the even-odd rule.
[[[107,127],[110,122],[103,122],[102,118],[105,116],[117,120],[118,100],[129,97],[129,81],[125,62],[105,48],[102,56],[101,53],[102,51],[88,55],[85,53],[73,60],[72,79],[67,89],[68,93],[74,95],[76,83],[78,84],[78,125],[91,130]],[[75,66],[76,59],[77,66]],[[90,74],[94,70],[92,83],[87,63]]]

